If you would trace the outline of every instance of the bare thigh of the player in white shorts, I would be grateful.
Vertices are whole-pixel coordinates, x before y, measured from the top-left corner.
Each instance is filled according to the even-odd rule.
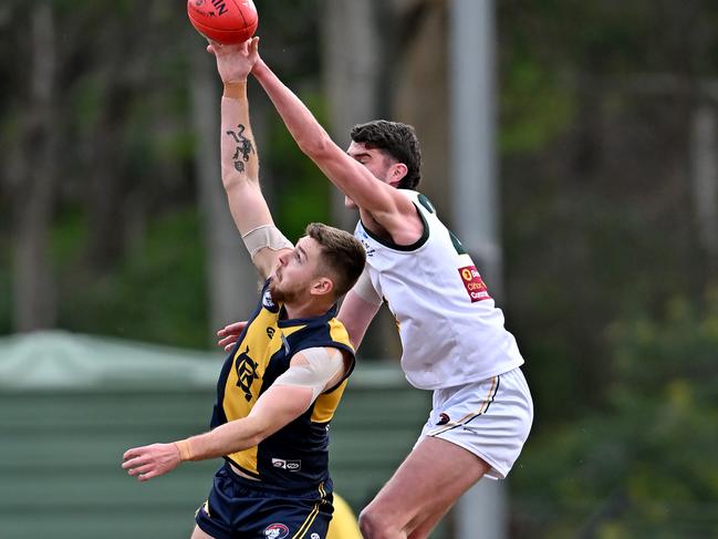
[[[366,539],[422,539],[489,465],[440,438],[425,438],[362,511]]]

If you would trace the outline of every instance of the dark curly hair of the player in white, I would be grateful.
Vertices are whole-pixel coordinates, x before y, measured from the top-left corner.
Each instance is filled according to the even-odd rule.
[[[384,153],[406,165],[406,176],[398,186],[414,189],[422,179],[422,148],[414,127],[399,122],[374,120],[352,127],[352,141]]]

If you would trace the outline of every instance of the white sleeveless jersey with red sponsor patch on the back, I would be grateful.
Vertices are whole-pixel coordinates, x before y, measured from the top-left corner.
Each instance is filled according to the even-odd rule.
[[[354,236],[366,249],[372,286],[399,329],[402,369],[423,390],[452,387],[523,364],[503,313],[474,262],[422,194],[400,189],[424,220],[412,246],[377,238],[360,220]]]

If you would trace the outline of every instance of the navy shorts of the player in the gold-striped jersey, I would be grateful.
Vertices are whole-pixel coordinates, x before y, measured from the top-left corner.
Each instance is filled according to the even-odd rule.
[[[324,539],[334,511],[331,488],[331,483],[311,490],[272,487],[225,464],[195,520],[215,539]]]

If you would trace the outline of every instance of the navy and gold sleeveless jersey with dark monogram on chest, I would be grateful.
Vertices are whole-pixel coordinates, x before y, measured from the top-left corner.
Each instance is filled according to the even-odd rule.
[[[259,396],[290,366],[292,356],[313,346],[347,352],[352,365],[334,387],[320,394],[300,417],[256,447],[226,455],[246,474],[278,487],[313,487],[329,479],[329,423],[354,369],[354,349],[336,305],[322,317],[280,318],[282,304],[272,301],[269,280],[260,304],[227,357],[217,383],[211,427],[249,415]]]

